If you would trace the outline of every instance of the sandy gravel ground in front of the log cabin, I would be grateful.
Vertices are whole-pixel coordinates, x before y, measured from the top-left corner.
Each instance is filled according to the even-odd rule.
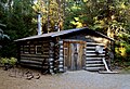
[[[87,71],[40,75],[30,80],[23,75],[25,69],[0,68],[0,89],[130,89],[129,74],[99,74]],[[34,76],[39,74],[31,71]]]

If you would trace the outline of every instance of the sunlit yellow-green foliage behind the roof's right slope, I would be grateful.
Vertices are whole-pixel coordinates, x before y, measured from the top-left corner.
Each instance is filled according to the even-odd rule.
[[[78,4],[73,1],[66,2],[69,15],[66,16],[65,28],[78,27],[77,23],[80,23],[80,26],[99,30],[115,39],[116,61],[130,61],[130,1],[83,0]]]

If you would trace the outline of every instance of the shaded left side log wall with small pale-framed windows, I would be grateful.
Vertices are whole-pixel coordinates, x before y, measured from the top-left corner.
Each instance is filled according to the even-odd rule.
[[[26,66],[43,67],[43,60],[50,58],[50,41],[24,41],[20,48],[20,63]]]

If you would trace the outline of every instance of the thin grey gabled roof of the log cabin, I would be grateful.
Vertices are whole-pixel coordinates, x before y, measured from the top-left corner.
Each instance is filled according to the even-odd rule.
[[[55,33],[49,33],[49,34],[43,34],[43,35],[36,35],[36,36],[30,36],[30,37],[26,37],[26,38],[22,38],[22,39],[17,39],[17,40],[14,40],[14,41],[25,41],[25,40],[31,40],[31,39],[39,39],[39,38],[54,38],[54,37],[58,37],[58,36],[64,36],[64,35],[68,35],[68,34],[72,34],[72,33],[78,33],[80,30],[88,30],[88,31],[91,31],[93,34],[96,34],[101,37],[104,37],[106,39],[109,39],[112,41],[114,41],[114,39],[99,33],[99,31],[95,31],[95,30],[92,30],[92,29],[89,29],[88,27],[82,27],[82,28],[74,28],[74,29],[68,29],[68,30],[61,30],[61,31],[55,31]]]

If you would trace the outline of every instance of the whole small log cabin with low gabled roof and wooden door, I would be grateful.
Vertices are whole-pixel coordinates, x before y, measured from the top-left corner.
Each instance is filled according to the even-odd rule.
[[[109,48],[113,41],[88,27],[15,40],[21,65],[39,67],[49,73],[105,69],[102,59],[107,60],[105,48]]]

